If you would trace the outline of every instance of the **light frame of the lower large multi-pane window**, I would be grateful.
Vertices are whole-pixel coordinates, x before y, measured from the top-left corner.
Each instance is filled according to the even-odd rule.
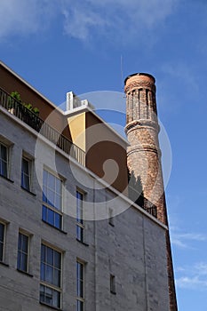
[[[42,276],[42,264],[45,265],[45,267],[52,267],[52,277],[54,276],[53,274],[54,274],[54,270],[55,270],[55,266],[54,266],[54,265],[48,264],[48,265],[46,266],[47,261],[42,261],[42,246],[44,246],[45,248],[49,248],[49,249],[51,249],[52,251],[57,251],[57,252],[60,253],[60,280],[58,281],[58,282],[60,283],[60,286],[55,285],[55,284],[53,284],[53,283],[49,283],[49,282],[44,281],[44,280],[42,279],[42,277],[43,277],[43,276]],[[52,256],[54,256],[54,253],[52,253]],[[53,257],[53,259],[54,259],[54,257]],[[51,244],[44,243],[44,242],[41,243],[39,302],[40,302],[41,304],[44,304],[44,305],[46,305],[46,306],[53,307],[53,308],[56,308],[56,309],[61,309],[61,307],[62,307],[62,272],[63,272],[63,269],[62,269],[62,268],[63,268],[62,260],[63,260],[63,252],[62,252],[62,251],[60,251],[59,249],[53,247]],[[44,272],[45,275],[46,275],[45,270],[43,270],[43,272]],[[54,306],[54,305],[52,305],[52,304],[50,304],[50,303],[45,302],[44,300],[41,300],[41,287],[44,287],[44,290],[49,289],[49,290],[51,290],[51,291],[56,291],[56,292],[58,292],[58,293],[60,294],[60,306]],[[45,293],[45,291],[44,291],[44,293]],[[47,296],[45,295],[44,298],[45,298],[45,297],[47,297]],[[52,299],[52,298],[53,298],[53,297],[51,297],[51,299]]]

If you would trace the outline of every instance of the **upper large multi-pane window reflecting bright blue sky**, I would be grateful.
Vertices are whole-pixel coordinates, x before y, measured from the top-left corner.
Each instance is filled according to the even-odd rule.
[[[62,180],[44,170],[42,219],[53,227],[62,227]]]

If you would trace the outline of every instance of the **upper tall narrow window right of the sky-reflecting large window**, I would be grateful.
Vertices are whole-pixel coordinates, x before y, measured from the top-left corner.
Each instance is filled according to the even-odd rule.
[[[84,194],[76,191],[76,238],[84,242]]]

